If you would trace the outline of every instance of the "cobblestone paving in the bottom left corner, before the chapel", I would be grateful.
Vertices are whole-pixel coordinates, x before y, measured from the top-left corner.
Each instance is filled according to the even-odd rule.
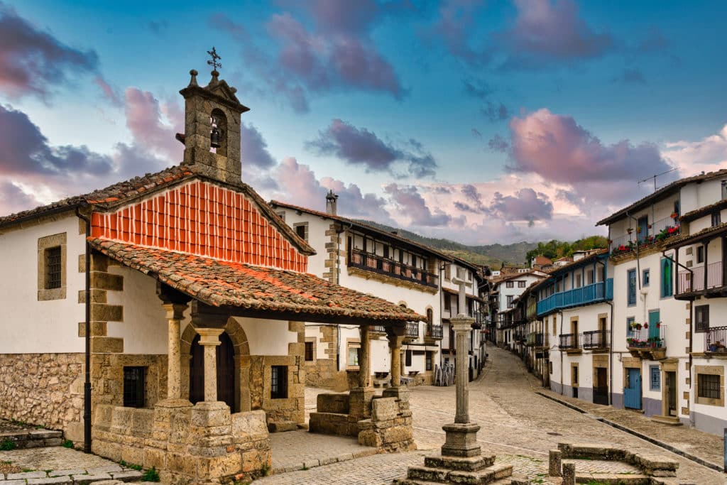
[[[132,478],[138,481],[142,475],[95,454],[63,446],[0,452],[0,462],[10,462],[21,470],[20,473],[0,473],[0,485],[87,484]]]

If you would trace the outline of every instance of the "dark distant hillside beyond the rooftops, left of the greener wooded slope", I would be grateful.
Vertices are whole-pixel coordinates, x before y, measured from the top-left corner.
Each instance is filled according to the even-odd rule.
[[[406,239],[411,239],[411,241],[433,247],[434,249],[439,249],[445,254],[451,254],[474,264],[489,265],[493,268],[499,268],[503,261],[509,264],[523,265],[526,261],[526,254],[529,251],[536,249],[538,246],[537,243],[529,243],[525,241],[513,244],[467,246],[466,244],[461,244],[449,239],[419,236],[419,234],[406,231],[406,229],[393,228],[390,225],[374,223],[370,220],[361,220],[361,222],[372,225],[382,231],[397,231],[400,236],[405,237]]]

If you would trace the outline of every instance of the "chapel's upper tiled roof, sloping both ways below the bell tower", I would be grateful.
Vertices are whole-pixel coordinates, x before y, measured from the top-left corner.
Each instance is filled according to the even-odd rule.
[[[281,220],[281,218],[278,217],[272,209],[270,209],[270,206],[265,203],[265,200],[262,199],[262,197],[260,197],[252,187],[242,182],[239,184],[230,184],[210,179],[209,177],[198,174],[194,165],[175,165],[174,167],[161,170],[161,172],[146,174],[142,177],[134,177],[129,180],[109,185],[106,188],[81,194],[80,196],[68,197],[67,199],[63,199],[52,204],[0,217],[0,228],[22,223],[23,221],[32,220],[44,215],[71,211],[76,209],[76,207],[84,207],[87,205],[91,205],[95,210],[106,211],[120,205],[127,204],[131,201],[142,199],[143,197],[148,196],[149,193],[165,190],[172,185],[176,185],[177,183],[182,183],[185,180],[193,178],[206,180],[208,182],[230,188],[231,190],[244,193],[252,199],[258,207],[260,207],[260,210],[264,213],[268,220],[276,226],[278,231],[283,233],[289,241],[300,249],[300,252],[304,254],[316,254],[316,250],[313,249],[313,247],[311,247],[304,239],[301,239],[289,225],[284,223],[284,221]]]

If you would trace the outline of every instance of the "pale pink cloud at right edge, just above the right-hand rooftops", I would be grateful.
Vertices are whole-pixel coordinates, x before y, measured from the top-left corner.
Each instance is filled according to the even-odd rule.
[[[680,140],[664,145],[662,154],[685,176],[727,167],[727,124],[702,140]]]

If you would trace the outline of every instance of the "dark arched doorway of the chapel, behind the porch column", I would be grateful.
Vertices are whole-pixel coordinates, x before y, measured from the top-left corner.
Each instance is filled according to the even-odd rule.
[[[217,345],[217,401],[224,401],[231,412],[238,412],[235,396],[235,350],[227,332],[220,334]],[[204,346],[199,345],[199,335],[190,346],[189,400],[192,404],[204,401]]]

